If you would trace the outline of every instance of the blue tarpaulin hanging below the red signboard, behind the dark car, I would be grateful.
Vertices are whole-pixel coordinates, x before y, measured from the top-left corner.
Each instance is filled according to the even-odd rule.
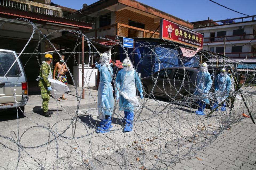
[[[137,69],[138,73],[141,73],[141,78],[148,77],[157,72],[159,67],[160,69],[163,69],[168,67],[199,66],[199,56],[183,57],[179,48],[172,48],[170,46],[158,46],[154,48],[154,46],[152,46],[154,49],[154,52],[152,52],[150,45],[157,45],[157,43],[151,42],[150,44],[147,43],[146,45],[147,46],[140,46],[140,44],[136,43],[135,50],[128,49],[128,56],[134,63],[134,67]],[[123,51],[121,47],[119,50]],[[123,61],[125,57],[126,56],[124,54],[121,55],[120,61]]]

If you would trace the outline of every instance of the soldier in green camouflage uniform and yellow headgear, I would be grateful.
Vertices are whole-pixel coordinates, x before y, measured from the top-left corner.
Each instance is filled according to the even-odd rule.
[[[43,99],[43,116],[51,117],[50,114],[53,112],[48,111],[48,103],[51,96],[51,83],[49,82],[48,78],[52,78],[51,67],[50,63],[53,61],[53,56],[51,54],[45,54],[45,61],[42,62],[40,71],[39,71],[39,83],[38,86],[40,87],[42,99]]]

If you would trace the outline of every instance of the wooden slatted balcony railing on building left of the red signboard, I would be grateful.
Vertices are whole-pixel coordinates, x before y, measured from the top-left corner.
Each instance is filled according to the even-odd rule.
[[[91,37],[138,37],[138,38],[159,38],[159,32],[149,31],[137,27],[132,27],[125,24],[116,23],[107,25],[105,27],[90,30],[85,33],[89,38]],[[153,35],[153,36],[152,36]],[[152,36],[152,37],[151,37]]]

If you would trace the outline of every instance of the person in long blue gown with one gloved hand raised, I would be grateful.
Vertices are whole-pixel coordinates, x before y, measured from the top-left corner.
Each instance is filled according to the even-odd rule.
[[[113,69],[109,64],[109,54],[102,53],[100,63],[95,63],[95,67],[99,69],[100,81],[98,90],[98,114],[101,119],[98,133],[106,133],[110,131],[111,115],[114,109],[113,88],[111,85]]]

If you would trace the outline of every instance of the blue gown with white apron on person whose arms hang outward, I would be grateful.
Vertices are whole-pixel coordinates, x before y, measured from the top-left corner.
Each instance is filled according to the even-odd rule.
[[[116,94],[119,94],[119,91],[121,93],[119,97],[119,111],[133,112],[134,105],[138,105],[136,86],[140,93],[143,92],[138,73],[135,70],[124,71],[122,69],[117,73],[115,82],[117,88]]]

